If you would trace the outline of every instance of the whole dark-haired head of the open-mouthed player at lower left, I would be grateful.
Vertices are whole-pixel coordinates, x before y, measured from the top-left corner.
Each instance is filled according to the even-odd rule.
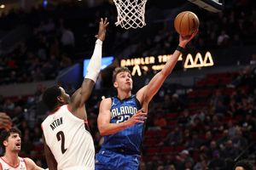
[[[21,149],[20,130],[12,127],[9,130],[3,130],[0,134],[1,147],[3,152],[6,150],[19,152]]]

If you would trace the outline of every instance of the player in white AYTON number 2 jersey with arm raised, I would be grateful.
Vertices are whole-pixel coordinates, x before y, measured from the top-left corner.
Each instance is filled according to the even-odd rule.
[[[107,18],[101,19],[94,53],[81,88],[70,98],[61,87],[48,88],[43,95],[52,112],[44,122],[44,152],[49,170],[94,170],[95,148],[88,130],[85,102],[89,99],[102,65],[102,42]]]

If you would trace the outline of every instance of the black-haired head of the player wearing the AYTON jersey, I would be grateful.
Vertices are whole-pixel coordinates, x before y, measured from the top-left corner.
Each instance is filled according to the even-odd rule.
[[[43,94],[43,102],[49,111],[54,111],[60,105],[66,105],[70,101],[70,97],[65,90],[58,86],[47,88]]]

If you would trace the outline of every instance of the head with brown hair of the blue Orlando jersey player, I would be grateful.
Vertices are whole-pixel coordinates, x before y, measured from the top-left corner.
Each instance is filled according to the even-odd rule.
[[[127,67],[117,67],[113,71],[113,87],[121,90],[132,89],[131,71]]]

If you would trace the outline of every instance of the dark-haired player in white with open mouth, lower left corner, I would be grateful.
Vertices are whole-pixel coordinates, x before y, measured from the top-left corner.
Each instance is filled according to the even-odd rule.
[[[0,157],[0,170],[42,170],[30,158],[19,156],[21,139],[20,130],[13,127],[3,130],[0,135],[4,155]]]

